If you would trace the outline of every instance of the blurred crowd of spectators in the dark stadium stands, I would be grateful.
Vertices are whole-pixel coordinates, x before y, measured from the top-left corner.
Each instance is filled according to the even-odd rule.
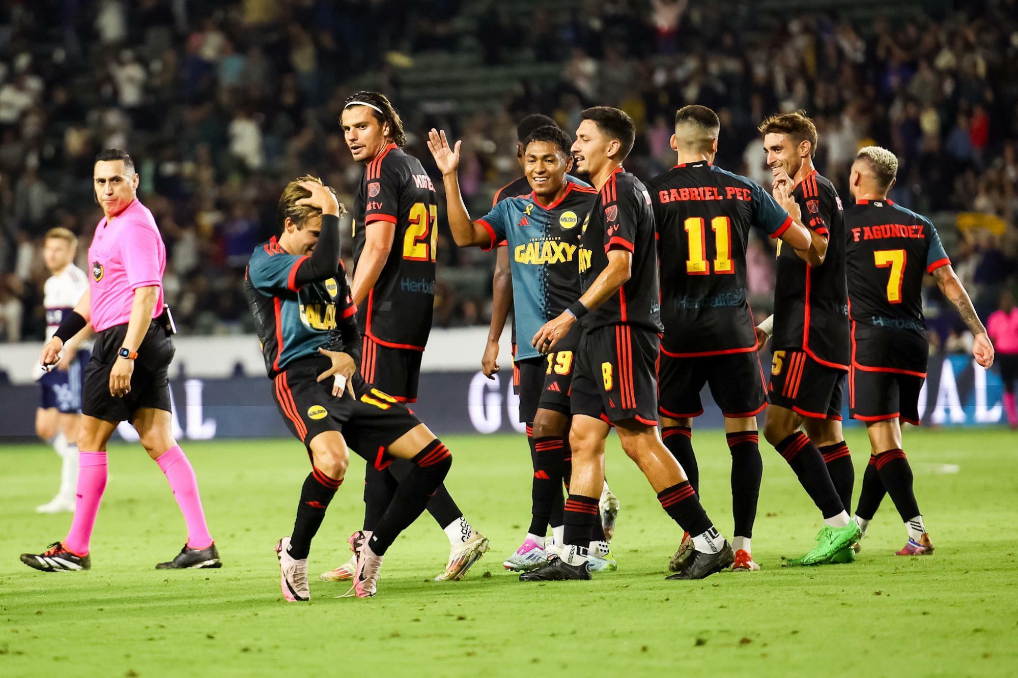
[[[460,180],[477,214],[519,173],[515,120],[526,113],[550,114],[571,133],[586,106],[624,109],[637,125],[627,169],[649,178],[674,163],[676,108],[711,106],[722,119],[717,163],[769,186],[756,125],[775,111],[804,109],[821,133],[818,169],[836,182],[847,179],[861,146],[898,155],[892,196],[940,215],[980,315],[1014,287],[1015,0],[954,3],[950,18],[815,13],[782,21],[749,1],[582,0],[554,9],[525,2],[523,12],[502,2],[476,67],[558,62],[557,81],[521,81],[480,112],[401,100],[401,68],[421,53],[456,51],[457,18],[469,4],[4,3],[0,341],[42,339],[42,235],[54,226],[79,234],[83,261],[99,220],[87,177],[95,154],[110,147],[138,164],[139,192],[169,249],[166,295],[181,329],[249,332],[243,269],[253,245],[277,229],[279,187],[310,172],[352,203],[360,167],[337,119],[343,99],[363,84],[390,93],[412,134],[407,150],[426,168],[434,169],[422,130],[441,125],[464,139]],[[382,13],[387,20],[376,21]],[[522,49],[500,47],[510,44]],[[442,237],[436,325],[487,322],[493,258],[457,250],[447,231]],[[769,308],[774,288],[769,247],[754,240],[748,256],[757,310]],[[964,326],[936,286],[928,289],[935,341],[955,348]]]

